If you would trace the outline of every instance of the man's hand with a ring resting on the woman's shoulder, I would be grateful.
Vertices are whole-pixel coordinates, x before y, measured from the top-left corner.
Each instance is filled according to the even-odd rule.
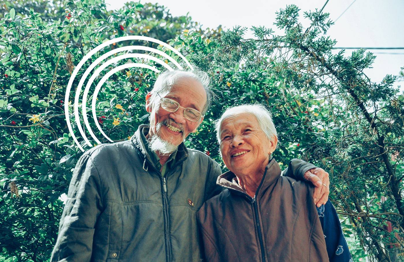
[[[311,168],[304,173],[304,178],[315,186],[314,188],[314,204],[317,207],[325,205],[330,194],[330,177],[322,168]]]

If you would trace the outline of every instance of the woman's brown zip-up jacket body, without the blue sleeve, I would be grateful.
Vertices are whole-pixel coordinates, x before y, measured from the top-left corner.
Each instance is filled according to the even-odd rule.
[[[313,188],[280,174],[272,159],[255,198],[233,173],[218,177],[217,184],[227,189],[198,212],[206,261],[328,261]]]

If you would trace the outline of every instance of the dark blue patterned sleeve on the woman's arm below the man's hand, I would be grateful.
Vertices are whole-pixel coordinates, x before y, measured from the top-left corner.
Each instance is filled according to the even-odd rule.
[[[337,211],[335,211],[330,200],[328,200],[325,205],[317,208],[317,212],[323,228],[330,262],[352,261],[347,241],[345,241],[345,237],[342,233]]]

